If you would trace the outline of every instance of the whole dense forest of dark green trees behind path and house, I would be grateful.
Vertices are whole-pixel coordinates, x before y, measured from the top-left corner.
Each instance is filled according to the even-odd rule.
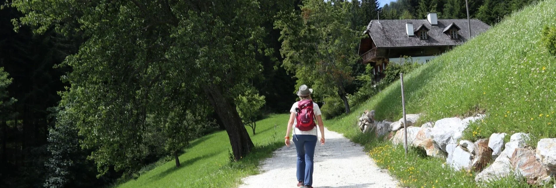
[[[470,0],[469,8],[494,24],[530,2]],[[377,92],[356,55],[371,19],[466,17],[464,0],[379,7],[8,0],[0,9],[0,187],[108,186],[161,159],[179,166],[188,142],[215,130],[228,132],[240,160],[253,147],[245,126],[255,132],[265,113],[289,111],[301,84],[315,88],[327,117]]]

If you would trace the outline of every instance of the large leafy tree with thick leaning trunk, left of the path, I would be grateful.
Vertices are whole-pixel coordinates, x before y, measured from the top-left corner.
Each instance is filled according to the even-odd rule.
[[[73,71],[64,76],[71,87],[62,92],[61,105],[78,118],[81,144],[93,150],[89,159],[101,175],[111,166],[138,170],[137,161],[145,161],[152,145],[143,136],[177,113],[165,104],[192,111],[195,105],[184,101],[209,101],[224,123],[235,159],[251,151],[235,93],[225,90],[260,71],[255,52],[266,51],[261,50],[258,5],[252,0],[13,2],[26,14],[19,22],[37,33],[53,27],[87,38],[62,65]],[[158,117],[155,123],[147,121],[151,115]],[[186,117],[172,121],[190,121]]]

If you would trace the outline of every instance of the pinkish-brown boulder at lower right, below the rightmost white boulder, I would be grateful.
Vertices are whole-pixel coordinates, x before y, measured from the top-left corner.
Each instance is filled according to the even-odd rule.
[[[510,164],[514,167],[515,177],[525,177],[528,184],[544,185],[550,181],[547,170],[537,161],[533,150],[516,149],[510,159]]]

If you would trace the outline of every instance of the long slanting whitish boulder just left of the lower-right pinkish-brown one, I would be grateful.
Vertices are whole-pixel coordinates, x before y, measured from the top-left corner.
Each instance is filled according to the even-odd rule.
[[[492,165],[486,167],[486,169],[475,176],[475,181],[490,182],[512,175],[513,166],[510,163],[510,158],[516,149],[527,145],[527,140],[529,140],[529,135],[526,133],[519,132],[513,134],[510,137],[510,142],[505,144],[504,151],[500,152],[500,155],[494,160]]]

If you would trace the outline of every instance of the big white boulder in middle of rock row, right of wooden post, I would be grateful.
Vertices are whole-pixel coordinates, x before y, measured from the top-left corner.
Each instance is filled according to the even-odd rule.
[[[458,143],[457,141],[467,126],[468,123],[458,117],[443,118],[434,123],[431,134],[440,149],[446,151],[446,145]]]

